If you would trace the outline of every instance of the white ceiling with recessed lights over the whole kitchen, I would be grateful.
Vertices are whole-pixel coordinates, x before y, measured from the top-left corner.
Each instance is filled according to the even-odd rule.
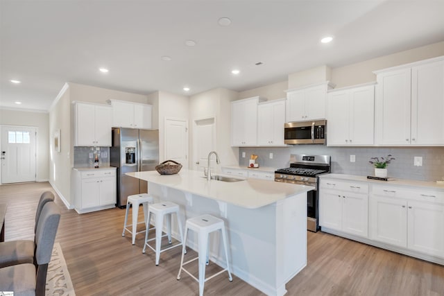
[[[240,92],[441,42],[443,15],[444,0],[0,0],[0,107],[48,110],[65,82]],[[333,42],[321,44],[324,35]]]

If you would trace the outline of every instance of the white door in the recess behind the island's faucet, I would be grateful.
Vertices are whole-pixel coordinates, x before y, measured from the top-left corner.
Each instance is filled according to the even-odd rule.
[[[193,129],[193,169],[202,171],[208,166],[208,153],[216,150],[216,132],[214,117],[194,121]],[[210,166],[216,168],[216,157],[212,157]]]

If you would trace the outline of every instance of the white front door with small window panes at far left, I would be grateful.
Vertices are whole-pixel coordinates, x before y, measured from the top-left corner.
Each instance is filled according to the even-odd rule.
[[[36,128],[1,127],[1,183],[35,182]]]

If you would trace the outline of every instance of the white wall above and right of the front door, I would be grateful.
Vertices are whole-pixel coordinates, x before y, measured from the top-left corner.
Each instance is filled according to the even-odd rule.
[[[37,162],[36,180],[44,182],[49,180],[49,114],[46,112],[33,112],[0,109],[0,125],[22,125],[37,128]],[[0,141],[1,145],[1,141]],[[1,180],[1,170],[0,170]]]

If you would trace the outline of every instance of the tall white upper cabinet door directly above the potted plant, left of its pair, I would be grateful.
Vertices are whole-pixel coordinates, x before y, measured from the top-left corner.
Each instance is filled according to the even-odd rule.
[[[377,75],[377,144],[410,144],[411,71],[402,69]]]

